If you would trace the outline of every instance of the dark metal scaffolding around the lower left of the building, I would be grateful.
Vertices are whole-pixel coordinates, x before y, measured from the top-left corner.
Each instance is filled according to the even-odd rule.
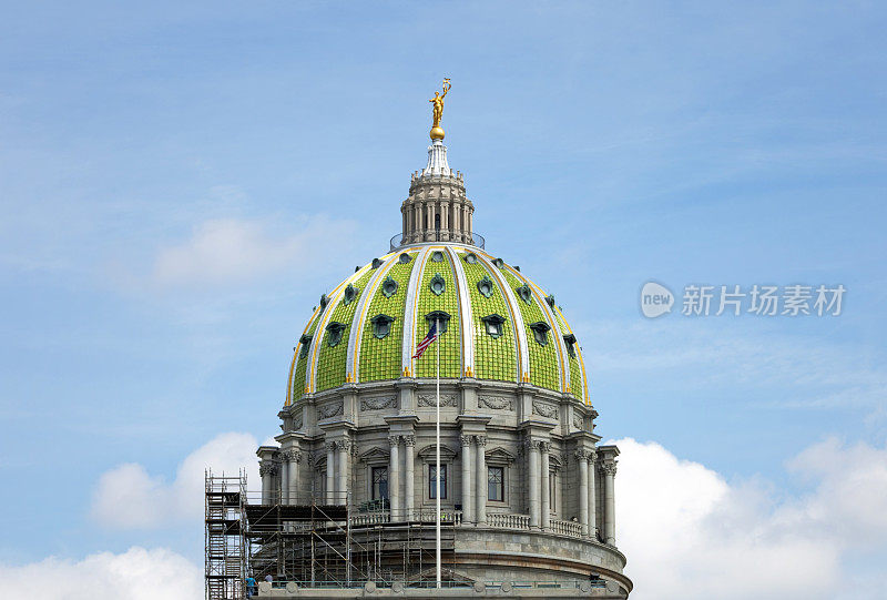
[[[391,522],[387,508],[355,507],[347,494],[307,492],[287,504],[255,496],[251,502],[245,474],[206,471],[206,600],[242,600],[248,576],[303,588],[434,584],[434,511]],[[453,557],[452,516],[441,525],[445,579],[467,583],[446,568]]]

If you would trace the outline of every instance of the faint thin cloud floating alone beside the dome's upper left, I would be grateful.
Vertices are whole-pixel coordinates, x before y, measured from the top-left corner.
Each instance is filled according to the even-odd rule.
[[[313,271],[324,262],[319,258],[347,248],[355,230],[351,221],[324,215],[285,225],[208,220],[196,225],[185,242],[157,251],[151,279],[160,287],[224,286],[294,268]]]

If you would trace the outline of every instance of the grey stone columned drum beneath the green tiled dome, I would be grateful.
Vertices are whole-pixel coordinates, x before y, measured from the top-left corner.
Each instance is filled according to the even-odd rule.
[[[613,513],[619,450],[598,446],[597,413],[529,384],[462,378],[442,384],[440,396],[441,506],[457,522],[453,571],[471,580],[597,576],[626,594]],[[285,407],[281,447],[258,450],[263,501],[359,506],[373,500],[373,468],[387,467],[386,522],[422,519],[435,509],[434,398],[434,380],[401,377]],[[501,499],[490,499],[490,467],[502,469]]]

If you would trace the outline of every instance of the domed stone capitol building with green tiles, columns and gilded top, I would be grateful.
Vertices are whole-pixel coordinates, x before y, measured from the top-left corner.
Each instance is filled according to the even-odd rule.
[[[581,340],[552,291],[475,233],[441,138],[387,252],[294,332],[279,446],[257,450],[251,570],[305,597],[626,598],[619,449],[599,444]],[[427,586],[438,521],[442,591]]]

